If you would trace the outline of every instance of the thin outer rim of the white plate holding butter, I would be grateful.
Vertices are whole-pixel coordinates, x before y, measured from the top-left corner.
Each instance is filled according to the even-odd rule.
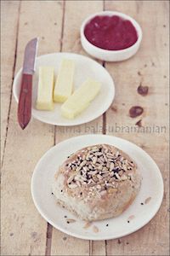
[[[112,102],[114,101],[115,99],[115,95],[116,95],[116,87],[115,87],[115,82],[114,82],[114,79],[111,77],[111,74],[107,71],[107,69],[105,67],[103,67],[101,64],[99,64],[98,61],[95,61],[93,58],[90,58],[86,55],[80,55],[80,54],[77,54],[77,53],[71,53],[71,52],[54,52],[54,53],[48,53],[48,54],[45,54],[45,55],[38,55],[37,56],[37,60],[38,59],[41,59],[42,57],[48,57],[49,55],[72,55],[72,56],[78,56],[78,57],[81,57],[82,59],[87,59],[88,61],[93,61],[95,63],[95,65],[98,65],[99,67],[101,67],[103,70],[105,70],[105,73],[107,73],[107,76],[108,78],[111,80],[111,83],[112,83],[112,86],[111,86],[111,90],[112,90],[112,94],[111,94],[111,99],[109,100],[108,104],[107,104],[107,107],[104,108],[104,110],[102,110],[102,112],[100,114],[98,114],[95,118],[92,117],[86,121],[78,121],[76,123],[73,123],[73,124],[70,124],[68,122],[65,122],[65,123],[57,123],[57,122],[51,122],[51,121],[45,121],[45,120],[42,120],[41,117],[38,117],[37,114],[31,113],[31,118],[34,118],[34,119],[37,119],[38,121],[41,121],[42,123],[45,123],[45,124],[48,124],[48,125],[58,125],[58,126],[74,126],[74,125],[83,125],[83,124],[87,124],[88,122],[91,122],[92,120],[94,119],[98,119],[103,113],[105,113],[110,107],[111,107],[111,104]],[[22,67],[20,67],[20,69],[18,70],[18,72],[16,73],[16,75],[14,76],[14,82],[13,82],[13,95],[14,95],[14,99],[15,99],[15,102],[19,102],[19,98],[17,96],[17,93],[16,93],[16,82],[18,81],[18,79],[20,78],[21,76],[21,73],[22,73]]]

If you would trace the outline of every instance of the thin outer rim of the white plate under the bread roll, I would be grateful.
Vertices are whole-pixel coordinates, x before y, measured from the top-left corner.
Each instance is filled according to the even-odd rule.
[[[105,238],[99,238],[99,237],[94,237],[94,236],[90,236],[88,235],[88,237],[86,236],[83,236],[83,235],[77,235],[77,233],[75,232],[71,232],[70,230],[65,230],[63,229],[62,227],[59,227],[57,224],[55,224],[52,220],[50,220],[48,218],[48,216],[46,216],[45,213],[42,212],[42,210],[40,209],[35,197],[34,197],[34,193],[33,193],[33,183],[34,183],[34,178],[35,178],[35,175],[36,175],[36,171],[38,169],[38,166],[39,166],[39,163],[41,162],[41,160],[47,156],[48,154],[50,154],[50,151],[53,151],[54,148],[57,148],[59,146],[59,144],[62,144],[62,143],[68,143],[70,140],[74,139],[74,138],[82,138],[82,137],[111,137],[111,138],[115,138],[116,136],[111,136],[111,135],[104,135],[104,134],[86,134],[86,135],[81,135],[81,136],[75,136],[75,137],[70,137],[62,142],[59,142],[57,143],[56,145],[54,145],[52,148],[49,148],[44,154],[42,154],[42,157],[38,160],[37,162],[37,165],[35,166],[34,168],[34,171],[32,173],[32,177],[31,177],[31,196],[32,196],[32,200],[35,204],[35,206],[37,207],[37,211],[39,212],[39,214],[42,216],[42,218],[44,218],[49,224],[51,224],[55,229],[57,230],[60,230],[62,232],[64,232],[65,234],[69,235],[69,236],[74,236],[74,237],[77,237],[77,238],[80,238],[80,239],[83,239],[83,240],[92,240],[92,241],[104,241],[104,240],[111,240],[111,239],[117,239],[117,238],[120,238],[120,237],[123,237],[123,236],[127,236],[127,235],[130,235],[130,234],[133,234],[134,232],[136,232],[137,230],[140,230],[141,228],[143,228],[146,224],[148,224],[150,222],[150,220],[152,218],[154,218],[156,216],[156,213],[160,210],[160,207],[161,207],[161,203],[162,203],[162,200],[163,200],[163,193],[164,193],[164,183],[163,183],[163,178],[161,176],[161,171],[160,171],[160,168],[157,166],[155,160],[153,160],[150,156],[150,154],[146,153],[144,151],[143,148],[140,148],[138,145],[136,145],[135,143],[132,143],[130,141],[128,141],[127,139],[124,139],[122,137],[116,137],[116,139],[119,139],[121,140],[122,142],[127,142],[127,143],[130,143],[132,146],[134,147],[137,147],[139,150],[141,150],[142,154],[144,154],[145,157],[147,157],[148,159],[150,159],[150,161],[152,162],[152,164],[154,164],[157,168],[157,173],[160,177],[160,184],[161,184],[161,197],[160,197],[160,201],[158,202],[158,206],[157,206],[157,209],[156,209],[156,212],[154,212],[152,214],[152,216],[150,218],[148,218],[144,224],[142,225],[138,225],[136,226],[136,228],[133,230],[133,231],[127,231],[127,232],[124,232],[122,236],[114,236],[114,237],[111,237],[111,236],[105,236]],[[102,237],[102,236],[101,236]]]

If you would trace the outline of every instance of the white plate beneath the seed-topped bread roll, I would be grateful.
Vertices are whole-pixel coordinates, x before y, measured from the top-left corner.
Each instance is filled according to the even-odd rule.
[[[108,143],[122,149],[129,154],[139,166],[142,172],[142,186],[133,204],[119,217],[96,221],[94,224],[99,228],[99,233],[94,233],[93,226],[88,230],[83,229],[84,221],[79,220],[73,214],[59,207],[51,194],[51,183],[54,173],[68,155],[88,145]],[[163,181],[161,172],[150,155],[133,143],[119,137],[106,135],[85,135],[72,137],[49,149],[39,160],[31,180],[31,195],[37,207],[49,224],[68,235],[88,240],[113,239],[139,230],[153,218],[161,206],[163,197]],[[141,205],[146,198],[151,197],[148,204]],[[75,223],[67,224],[64,216],[77,219]],[[127,218],[134,215],[130,223]],[[107,227],[106,224],[109,224]]]

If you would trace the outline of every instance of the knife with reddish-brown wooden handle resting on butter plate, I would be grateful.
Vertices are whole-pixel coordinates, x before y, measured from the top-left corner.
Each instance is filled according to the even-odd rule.
[[[32,76],[35,72],[37,43],[38,39],[33,38],[26,44],[25,49],[18,105],[18,121],[22,130],[26,128],[31,119]]]

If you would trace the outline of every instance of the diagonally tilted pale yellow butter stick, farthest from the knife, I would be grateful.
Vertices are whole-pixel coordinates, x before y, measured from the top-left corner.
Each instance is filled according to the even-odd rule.
[[[88,108],[99,93],[100,87],[99,82],[93,79],[86,80],[61,106],[61,114],[67,119],[74,119],[77,114]]]

